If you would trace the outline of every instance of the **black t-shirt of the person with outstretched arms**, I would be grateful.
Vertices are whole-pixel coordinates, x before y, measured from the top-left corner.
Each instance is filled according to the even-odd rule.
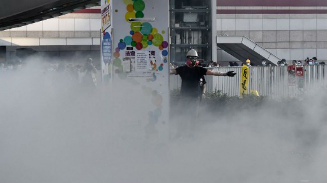
[[[177,74],[182,78],[181,95],[185,97],[198,97],[200,93],[200,78],[206,75],[207,69],[199,66],[181,66],[176,68]]]

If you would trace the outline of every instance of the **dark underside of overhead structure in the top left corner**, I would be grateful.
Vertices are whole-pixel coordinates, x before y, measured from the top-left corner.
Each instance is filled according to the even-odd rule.
[[[1,0],[0,31],[97,5],[100,0]]]

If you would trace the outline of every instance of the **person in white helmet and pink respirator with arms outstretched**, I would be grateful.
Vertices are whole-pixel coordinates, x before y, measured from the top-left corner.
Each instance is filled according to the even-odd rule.
[[[211,71],[198,66],[198,53],[195,49],[191,49],[186,55],[187,61],[185,66],[171,68],[170,74],[180,75],[181,83],[181,97],[179,101],[179,115],[181,121],[177,125],[177,136],[180,136],[183,131],[192,131],[198,119],[199,98],[201,89],[199,81],[205,75],[212,76],[229,76],[234,77],[234,71],[219,72]]]

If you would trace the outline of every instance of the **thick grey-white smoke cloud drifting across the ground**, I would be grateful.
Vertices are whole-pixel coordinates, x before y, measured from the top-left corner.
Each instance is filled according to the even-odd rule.
[[[0,74],[0,182],[327,181],[325,92],[202,111],[194,136],[159,143],[124,115],[142,107],[129,88],[84,88],[33,60]]]

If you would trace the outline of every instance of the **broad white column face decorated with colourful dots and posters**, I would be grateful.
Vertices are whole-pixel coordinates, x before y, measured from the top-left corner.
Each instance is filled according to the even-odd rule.
[[[147,138],[168,135],[168,4],[168,0],[113,2],[113,82],[133,86],[131,92],[142,98],[134,120],[141,121]]]

